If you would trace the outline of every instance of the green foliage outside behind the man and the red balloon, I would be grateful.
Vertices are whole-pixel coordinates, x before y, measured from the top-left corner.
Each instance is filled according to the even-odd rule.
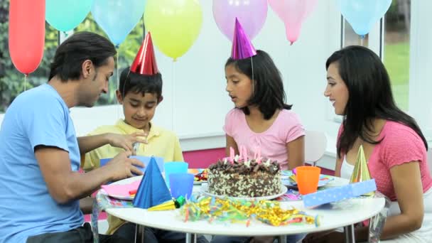
[[[107,16],[109,17],[109,16]],[[80,23],[75,31],[90,31],[107,35],[93,20],[91,13]],[[4,112],[13,99],[24,91],[24,75],[13,66],[9,55],[9,0],[0,0],[0,113]],[[45,23],[45,48],[43,60],[38,69],[31,73],[26,79],[26,90],[47,82],[50,73],[50,62],[55,55],[58,46],[58,31]],[[117,49],[119,53],[119,72],[131,65],[136,52],[141,46],[144,36],[144,23],[139,21],[133,31],[129,33],[126,40]],[[31,37],[29,37],[31,38]],[[97,104],[115,104],[115,90],[117,90],[117,73],[109,83],[109,94],[102,95]]]

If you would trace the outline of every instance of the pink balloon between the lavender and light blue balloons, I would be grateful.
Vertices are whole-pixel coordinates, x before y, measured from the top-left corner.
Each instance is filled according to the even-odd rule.
[[[269,0],[271,9],[285,23],[286,38],[291,45],[300,36],[303,21],[311,14],[318,0]]]

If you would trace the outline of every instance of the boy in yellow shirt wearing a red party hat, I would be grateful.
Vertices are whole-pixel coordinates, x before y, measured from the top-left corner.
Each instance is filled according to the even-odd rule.
[[[138,144],[136,155],[158,156],[165,162],[183,161],[178,137],[173,131],[168,131],[151,123],[156,107],[162,101],[162,77],[154,58],[150,33],[141,45],[131,68],[121,72],[117,100],[123,105],[124,120],[119,120],[113,126],[100,126],[90,135],[107,132],[116,134],[146,134],[146,143]],[[101,158],[113,158],[121,152],[121,148],[105,145],[85,154],[84,171],[98,168]],[[135,226],[117,217],[108,215],[109,229],[107,234],[121,235],[134,242]],[[185,234],[170,232],[163,229],[145,227],[145,242],[185,242]],[[198,242],[207,242],[200,237]]]

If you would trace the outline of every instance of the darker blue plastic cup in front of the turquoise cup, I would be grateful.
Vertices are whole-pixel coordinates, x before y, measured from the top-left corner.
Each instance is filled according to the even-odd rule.
[[[189,199],[192,194],[194,178],[195,175],[190,173],[171,173],[169,179],[173,198],[183,196]]]

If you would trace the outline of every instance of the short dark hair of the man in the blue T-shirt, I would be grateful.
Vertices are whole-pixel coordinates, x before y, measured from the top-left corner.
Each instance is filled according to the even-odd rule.
[[[74,33],[61,43],[55,51],[50,67],[49,80],[58,76],[60,80],[79,80],[82,75],[81,65],[91,60],[96,68],[107,64],[110,57],[116,55],[114,45],[97,33],[82,31]]]

